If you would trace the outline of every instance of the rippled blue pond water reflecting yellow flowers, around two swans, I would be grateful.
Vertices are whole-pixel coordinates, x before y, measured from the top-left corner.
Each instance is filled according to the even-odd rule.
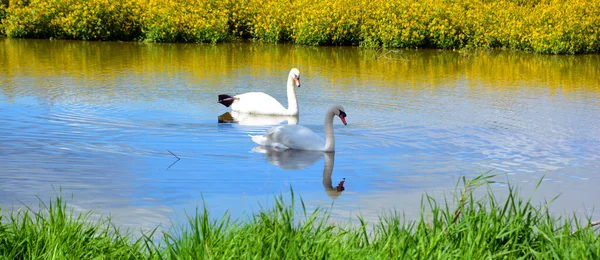
[[[217,104],[262,91],[286,105],[293,67],[292,121],[322,135],[327,108],[346,109],[334,156],[265,153],[249,135],[268,126]],[[600,219],[598,79],[599,55],[0,39],[0,205],[62,192],[149,229],[203,203],[247,216],[292,188],[342,220],[414,218],[426,192],[492,170],[536,202],[560,195],[557,214]]]

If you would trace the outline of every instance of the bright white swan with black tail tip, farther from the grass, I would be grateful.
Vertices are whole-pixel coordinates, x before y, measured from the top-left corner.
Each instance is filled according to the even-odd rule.
[[[296,87],[300,87],[300,71],[293,68],[290,70],[287,83],[288,108],[263,92],[248,92],[233,97],[221,94],[218,103],[231,107],[232,111],[242,113],[295,116],[298,115]]]

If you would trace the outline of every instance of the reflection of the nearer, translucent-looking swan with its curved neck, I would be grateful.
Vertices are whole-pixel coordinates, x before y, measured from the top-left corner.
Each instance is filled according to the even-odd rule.
[[[336,199],[345,190],[344,182],[346,178],[343,178],[336,187],[333,187],[331,176],[333,174],[335,153],[293,149],[281,150],[265,146],[256,146],[252,151],[264,154],[265,159],[270,164],[279,166],[284,170],[304,169],[325,157],[325,164],[323,165],[323,188],[325,188],[325,193],[330,198]]]

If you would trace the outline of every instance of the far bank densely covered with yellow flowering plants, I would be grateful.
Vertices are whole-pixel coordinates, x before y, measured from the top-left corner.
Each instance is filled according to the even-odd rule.
[[[599,53],[594,0],[1,0],[9,37]]]

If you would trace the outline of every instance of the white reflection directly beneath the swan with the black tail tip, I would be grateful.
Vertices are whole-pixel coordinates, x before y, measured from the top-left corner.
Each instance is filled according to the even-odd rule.
[[[239,125],[278,125],[287,121],[288,125],[297,125],[298,116],[278,116],[248,114],[237,111],[225,112],[219,116],[219,123],[238,123]]]

